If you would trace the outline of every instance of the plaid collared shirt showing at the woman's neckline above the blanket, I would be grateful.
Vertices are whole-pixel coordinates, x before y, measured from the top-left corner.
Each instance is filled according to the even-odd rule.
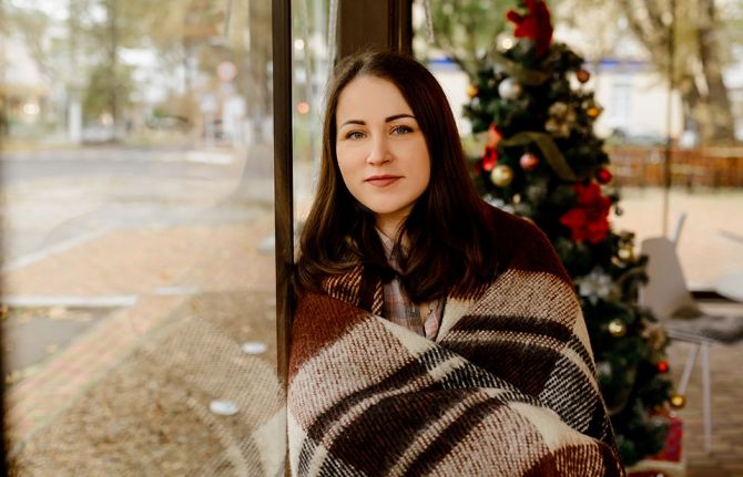
[[[387,262],[395,271],[399,272],[399,263],[395,253],[393,253],[395,243],[379,230],[377,232],[387,253]],[[416,304],[410,301],[397,277],[384,284],[384,318],[429,340],[436,339],[444,300],[431,301],[423,305]]]

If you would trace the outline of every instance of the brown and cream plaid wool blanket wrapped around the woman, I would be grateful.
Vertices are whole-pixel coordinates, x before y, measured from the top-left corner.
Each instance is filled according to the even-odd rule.
[[[380,317],[362,266],[299,298],[288,387],[299,476],[622,476],[580,304],[547,238],[492,210],[498,273],[436,341]]]

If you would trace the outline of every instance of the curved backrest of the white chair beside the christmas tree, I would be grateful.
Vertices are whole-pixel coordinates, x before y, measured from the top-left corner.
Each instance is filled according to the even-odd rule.
[[[648,284],[640,290],[640,304],[659,319],[668,319],[682,308],[696,309],[674,243],[665,237],[642,240],[640,251],[648,256]]]

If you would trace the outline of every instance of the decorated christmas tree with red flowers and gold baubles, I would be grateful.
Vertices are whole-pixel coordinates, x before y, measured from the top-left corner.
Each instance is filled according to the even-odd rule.
[[[465,114],[485,133],[475,180],[490,204],[533,221],[550,238],[580,297],[599,383],[624,465],[661,450],[668,432],[663,328],[637,303],[645,258],[621,214],[609,155],[593,132],[602,110],[587,87],[583,59],[552,42],[541,0],[509,11],[515,41],[495,51],[470,86]],[[486,133],[487,132],[487,133]]]

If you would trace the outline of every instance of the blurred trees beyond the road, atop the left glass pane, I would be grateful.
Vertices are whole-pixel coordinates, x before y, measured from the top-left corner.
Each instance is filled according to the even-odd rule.
[[[40,0],[3,3],[2,17],[2,34],[21,38],[58,90],[58,127],[73,104],[86,125],[114,131],[149,124],[154,108],[203,122],[205,94],[246,97],[262,121],[271,111],[269,2]],[[216,77],[223,61],[238,70],[227,86]]]

